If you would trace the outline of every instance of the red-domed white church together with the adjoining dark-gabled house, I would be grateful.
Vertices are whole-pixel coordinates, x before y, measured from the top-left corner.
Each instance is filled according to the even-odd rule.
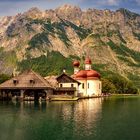
[[[92,62],[89,57],[85,59],[84,70],[80,70],[80,62],[73,62],[74,73],[68,76],[64,71],[56,78],[54,95],[73,97],[97,97],[102,94],[102,82],[100,74],[91,68]]]

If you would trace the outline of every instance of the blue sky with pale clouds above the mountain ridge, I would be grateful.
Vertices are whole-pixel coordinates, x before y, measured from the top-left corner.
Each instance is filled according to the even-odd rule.
[[[55,9],[64,4],[71,4],[82,9],[111,9],[127,8],[140,14],[140,0],[0,0],[0,16],[16,15],[32,7],[41,10]]]

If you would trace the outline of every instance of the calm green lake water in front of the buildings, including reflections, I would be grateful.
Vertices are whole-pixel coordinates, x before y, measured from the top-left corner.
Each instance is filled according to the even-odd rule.
[[[140,97],[0,102],[0,140],[139,140]]]

